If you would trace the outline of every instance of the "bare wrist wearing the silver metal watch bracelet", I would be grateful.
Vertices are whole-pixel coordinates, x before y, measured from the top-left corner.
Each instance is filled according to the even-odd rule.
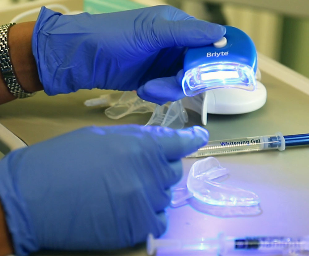
[[[1,26],[0,104],[43,89],[31,48],[34,24]]]

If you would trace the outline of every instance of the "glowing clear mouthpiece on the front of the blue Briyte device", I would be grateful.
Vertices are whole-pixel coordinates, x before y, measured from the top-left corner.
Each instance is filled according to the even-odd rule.
[[[236,62],[201,64],[185,72],[182,88],[187,96],[217,88],[253,91],[256,88],[255,72],[251,66]]]

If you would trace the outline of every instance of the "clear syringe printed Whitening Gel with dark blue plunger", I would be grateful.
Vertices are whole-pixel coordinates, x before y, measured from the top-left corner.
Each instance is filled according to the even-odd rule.
[[[261,151],[269,149],[285,150],[289,146],[309,144],[309,134],[282,135],[277,132],[274,135],[264,135],[248,138],[236,138],[209,141],[205,147],[201,147],[190,157],[204,157],[210,155],[225,155],[232,153]]]

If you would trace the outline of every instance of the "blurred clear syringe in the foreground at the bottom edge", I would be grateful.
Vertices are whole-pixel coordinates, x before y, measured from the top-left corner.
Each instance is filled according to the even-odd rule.
[[[298,253],[309,250],[309,236],[257,236],[226,237],[219,233],[216,238],[196,240],[155,239],[152,234],[147,239],[147,254],[154,255],[160,249],[165,253],[207,251],[213,255],[226,255],[241,250],[255,250],[269,253]],[[175,254],[176,255],[176,254]]]

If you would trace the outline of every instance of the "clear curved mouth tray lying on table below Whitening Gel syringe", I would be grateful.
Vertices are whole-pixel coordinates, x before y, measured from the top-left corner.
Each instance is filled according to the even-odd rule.
[[[171,206],[182,206],[191,197],[201,203],[226,207],[253,206],[260,203],[259,196],[251,191],[214,181],[228,173],[214,157],[195,162],[188,174],[186,189],[172,190]],[[181,193],[177,193],[179,191]]]

